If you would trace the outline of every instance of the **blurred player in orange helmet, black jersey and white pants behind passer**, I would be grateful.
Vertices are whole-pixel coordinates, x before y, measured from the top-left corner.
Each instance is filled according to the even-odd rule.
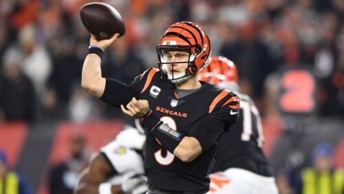
[[[240,98],[239,120],[215,147],[211,193],[277,193],[272,167],[261,150],[264,137],[259,111],[249,96],[238,92],[237,67],[228,58],[213,56],[200,79],[233,90]]]

